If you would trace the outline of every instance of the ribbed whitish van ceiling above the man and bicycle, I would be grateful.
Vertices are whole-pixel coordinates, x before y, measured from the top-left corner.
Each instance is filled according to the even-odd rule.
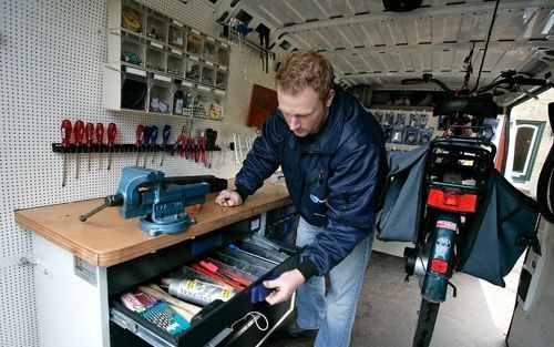
[[[423,0],[412,11],[391,12],[381,0],[218,0],[216,8],[222,24],[239,19],[253,29],[267,27],[277,62],[289,51],[310,49],[329,58],[337,82],[345,86],[440,90],[434,83],[401,81],[431,73],[459,89],[474,44],[469,83],[473,88],[495,4]],[[259,43],[256,30],[247,38]],[[553,64],[554,1],[501,0],[479,85],[506,70],[544,78]]]

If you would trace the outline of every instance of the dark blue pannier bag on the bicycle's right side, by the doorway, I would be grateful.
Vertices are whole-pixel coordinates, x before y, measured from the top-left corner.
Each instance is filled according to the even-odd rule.
[[[492,170],[488,194],[461,239],[459,271],[504,287],[526,247],[538,245],[537,218],[536,201]]]

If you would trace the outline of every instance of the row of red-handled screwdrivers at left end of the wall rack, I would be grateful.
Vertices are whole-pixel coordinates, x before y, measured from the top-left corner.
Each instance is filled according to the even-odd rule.
[[[62,137],[62,149],[68,151],[71,145],[71,139],[74,139],[74,146],[76,149],[76,164],[75,164],[75,178],[79,178],[79,167],[80,167],[80,152],[81,147],[86,147],[89,153],[89,171],[91,170],[91,152],[92,147],[96,145],[102,147],[104,145],[104,124],[86,123],[78,120],[74,124],[71,124],[70,120],[63,120],[60,133]],[[73,136],[72,136],[73,135]],[[110,159],[107,161],[107,170],[112,166],[112,150],[115,144],[115,136],[117,135],[117,126],[115,123],[110,123],[107,125],[107,149],[110,151]],[[65,186],[65,172],[68,169],[66,155],[63,155],[63,173],[62,173],[62,186]]]

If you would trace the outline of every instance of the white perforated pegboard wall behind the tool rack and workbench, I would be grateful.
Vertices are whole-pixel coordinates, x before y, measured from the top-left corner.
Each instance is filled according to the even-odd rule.
[[[152,9],[213,37],[219,37],[215,11],[209,1],[141,1]],[[21,255],[32,252],[31,234],[13,222],[13,211],[112,194],[121,169],[135,164],[134,153],[115,153],[112,170],[107,155],[81,154],[80,177],[75,178],[75,154],[66,155],[68,183],[62,182],[61,154],[51,144],[60,142],[60,123],[102,122],[117,124],[117,143],[134,143],[137,124],[171,124],[175,137],[183,118],[113,112],[102,108],[102,78],[106,61],[106,1],[2,1],[0,6],[0,346],[38,346],[37,312],[32,267],[18,264]],[[273,73],[266,74],[258,53],[232,45],[225,120],[194,121],[194,129],[218,131],[217,144],[224,149],[214,155],[212,169],[166,155],[160,167],[166,175],[213,174],[233,177],[239,169],[228,151],[232,133],[255,136],[245,126],[252,84],[273,86]],[[161,136],[160,136],[161,137]],[[158,140],[160,142],[160,140]],[[151,159],[151,156],[150,156]]]

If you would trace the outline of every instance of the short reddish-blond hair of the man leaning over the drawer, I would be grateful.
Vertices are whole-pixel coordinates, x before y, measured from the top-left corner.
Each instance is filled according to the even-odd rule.
[[[335,74],[331,63],[312,51],[295,51],[283,60],[275,82],[283,91],[296,94],[311,86],[325,100],[334,86]]]

